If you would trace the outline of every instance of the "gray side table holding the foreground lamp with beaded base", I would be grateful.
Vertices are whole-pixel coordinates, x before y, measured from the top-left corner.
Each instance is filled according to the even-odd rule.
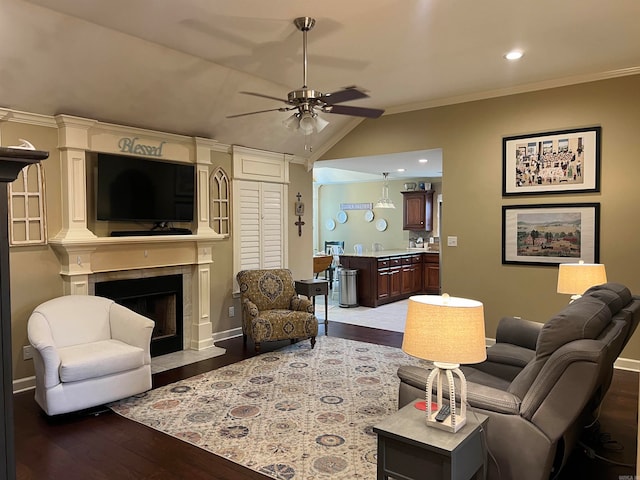
[[[482,428],[489,417],[467,412],[456,433],[427,427],[425,412],[406,405],[373,427],[378,434],[378,480],[482,478],[486,450]]]

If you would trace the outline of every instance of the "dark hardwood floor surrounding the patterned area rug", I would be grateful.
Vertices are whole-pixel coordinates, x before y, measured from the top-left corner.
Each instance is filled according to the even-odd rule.
[[[401,333],[333,322],[329,334],[394,347],[400,347],[402,342]],[[250,343],[248,348],[243,347],[241,338],[217,344],[227,349],[225,355],[156,374],[154,387],[255,355]],[[262,350],[271,351],[286,344],[265,343]],[[633,475],[635,467],[616,466],[596,455],[635,464],[637,405],[638,374],[616,371],[599,418],[599,432],[589,438],[594,458],[582,451],[574,452],[558,478],[619,480]],[[16,394],[14,409],[16,471],[20,480],[268,478],[110,410],[99,415],[89,412],[48,418],[35,403],[33,392]]]

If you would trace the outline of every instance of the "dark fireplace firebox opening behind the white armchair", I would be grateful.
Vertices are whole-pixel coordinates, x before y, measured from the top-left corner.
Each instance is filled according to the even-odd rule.
[[[151,356],[183,349],[182,275],[164,275],[95,284],[95,294],[153,320]]]

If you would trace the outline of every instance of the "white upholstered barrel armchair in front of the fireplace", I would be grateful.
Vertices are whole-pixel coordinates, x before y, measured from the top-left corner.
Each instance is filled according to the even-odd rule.
[[[36,402],[47,415],[95,407],[151,388],[154,322],[113,300],[67,295],[36,307]]]

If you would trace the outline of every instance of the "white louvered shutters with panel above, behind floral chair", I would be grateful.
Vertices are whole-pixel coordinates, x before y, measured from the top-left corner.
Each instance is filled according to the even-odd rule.
[[[234,276],[288,266],[288,155],[233,147]]]

